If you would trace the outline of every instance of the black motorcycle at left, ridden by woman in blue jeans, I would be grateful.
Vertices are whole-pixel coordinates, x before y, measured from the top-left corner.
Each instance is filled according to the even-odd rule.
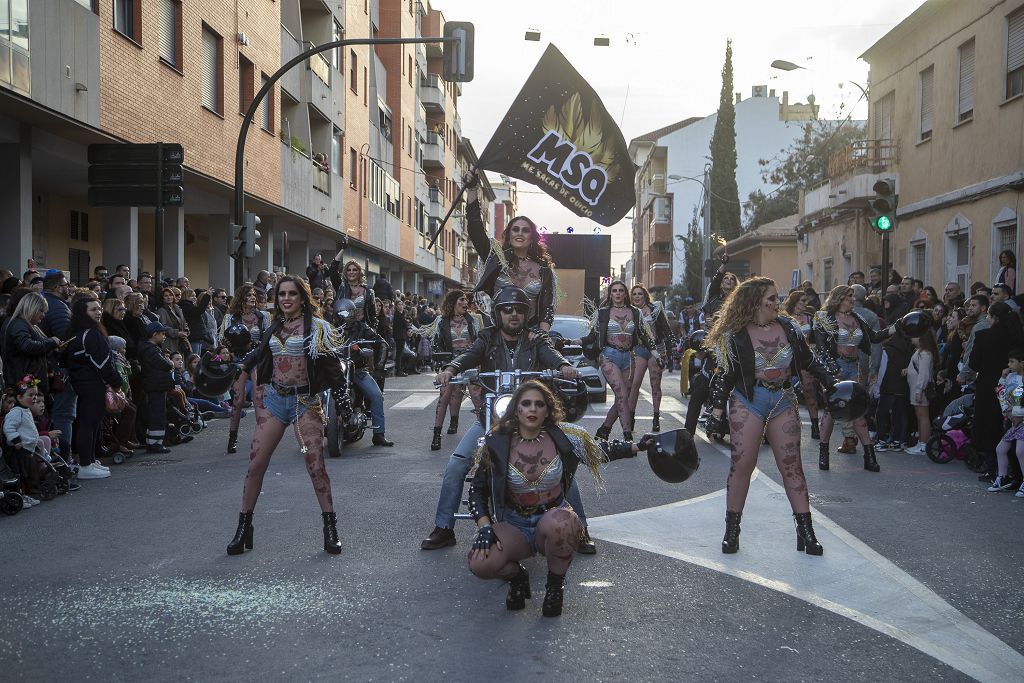
[[[379,343],[378,340],[358,339],[347,342],[340,351],[341,386],[328,392],[325,415],[327,450],[332,458],[341,456],[344,444],[361,439],[367,427],[371,426],[370,403],[353,376],[368,372],[367,367],[374,357],[374,345]]]

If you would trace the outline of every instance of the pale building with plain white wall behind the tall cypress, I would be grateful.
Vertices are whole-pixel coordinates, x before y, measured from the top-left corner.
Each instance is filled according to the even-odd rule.
[[[758,161],[771,159],[803,134],[817,116],[814,104],[790,102],[766,86],[754,86],[751,97],[735,95],[736,183],[740,202],[756,189],[771,191],[761,178]],[[718,115],[690,117],[630,141],[630,155],[640,168],[633,216],[633,278],[662,289],[682,282],[684,251],[677,238],[690,224],[700,224],[703,172]]]

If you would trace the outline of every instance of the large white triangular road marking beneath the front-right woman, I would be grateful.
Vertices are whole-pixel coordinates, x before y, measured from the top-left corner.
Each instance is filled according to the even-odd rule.
[[[679,415],[673,415],[682,420]],[[718,453],[728,449],[699,438]],[[707,453],[707,449],[703,449]],[[720,547],[725,489],[590,519],[596,539],[721,571],[799,598],[906,643],[979,681],[1019,680],[1024,655],[813,510],[822,557],[796,552],[782,486],[755,470],[736,555]]]

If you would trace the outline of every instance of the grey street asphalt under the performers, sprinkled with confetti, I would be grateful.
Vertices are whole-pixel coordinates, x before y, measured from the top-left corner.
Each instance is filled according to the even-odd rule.
[[[830,555],[822,538],[824,558],[790,560],[796,555],[793,522],[777,486],[765,489],[757,508],[766,512],[744,518],[740,551],[728,560],[728,571],[718,567],[720,557],[695,563],[680,559],[685,548],[660,552],[659,544],[678,546],[671,526],[658,527],[646,550],[595,532],[598,554],[578,556],[569,568],[561,617],[541,615],[546,568],[540,557],[526,562],[532,600],[522,611],[506,611],[506,585],[477,580],[466,568],[470,523],[458,522],[453,548],[419,547],[433,527],[440,475],[458,439],[445,436],[440,452],[429,450],[429,379],[388,380],[387,434],[395,447],[372,446],[368,435],[329,460],[340,556],[323,552],[319,510],[290,432],[256,508],[254,550],[224,553],[238,519],[248,449],[224,454],[223,421],[167,456],[137,455],[112,466],[109,479],[84,481],[79,492],[0,519],[6,586],[0,679],[1005,678],[978,674],[958,665],[956,655],[935,655],[914,635],[942,624],[924,620],[909,631],[887,630],[880,615],[843,604],[824,608],[806,591],[790,590],[802,579],[800,568],[779,564],[775,577],[744,570],[744,557],[750,567],[763,559],[756,554],[778,554],[796,567],[846,557],[835,546]],[[665,378],[664,429],[681,426],[673,417],[682,409],[677,382],[678,375]],[[605,408],[592,405],[591,416]],[[650,414],[644,400],[637,432],[649,427]],[[470,416],[463,411],[463,430]],[[243,421],[246,446],[253,424],[252,416]],[[600,422],[585,417],[581,424],[593,433]],[[803,460],[815,512],[854,546],[877,554],[868,564],[884,570],[879,582],[906,575],[924,587],[902,591],[907,609],[925,592],[934,594],[933,603],[990,634],[988,646],[1005,648],[1013,667],[1024,651],[1024,499],[986,493],[959,463],[937,465],[902,453],[880,454],[879,474],[862,470],[859,456],[843,455],[833,456],[831,471],[819,472],[817,444],[806,433]],[[839,435],[833,440],[838,443]],[[724,499],[715,496],[725,485],[728,458],[697,442],[701,467],[682,484],[654,477],[644,457],[607,465],[603,490],[583,473],[595,529],[605,528],[605,520],[610,529],[620,513],[708,496],[693,509],[711,505],[713,516],[687,531],[696,538],[686,543],[717,548]],[[760,467],[759,477],[781,483],[767,447]],[[899,603],[884,607],[902,609]],[[1016,680],[1024,679],[1024,668],[1018,671]]]

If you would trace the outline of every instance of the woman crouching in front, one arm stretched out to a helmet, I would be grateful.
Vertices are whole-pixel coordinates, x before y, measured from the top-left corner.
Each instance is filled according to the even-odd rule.
[[[505,606],[522,609],[530,589],[519,561],[540,552],[548,560],[543,612],[558,616],[565,572],[584,532],[565,497],[577,469],[584,465],[600,481],[602,462],[636,456],[646,446],[616,443],[606,456],[587,432],[561,422],[561,404],[541,382],[523,382],[510,405],[514,410],[476,454],[469,511],[477,531],[469,568],[480,579],[509,582]]]

